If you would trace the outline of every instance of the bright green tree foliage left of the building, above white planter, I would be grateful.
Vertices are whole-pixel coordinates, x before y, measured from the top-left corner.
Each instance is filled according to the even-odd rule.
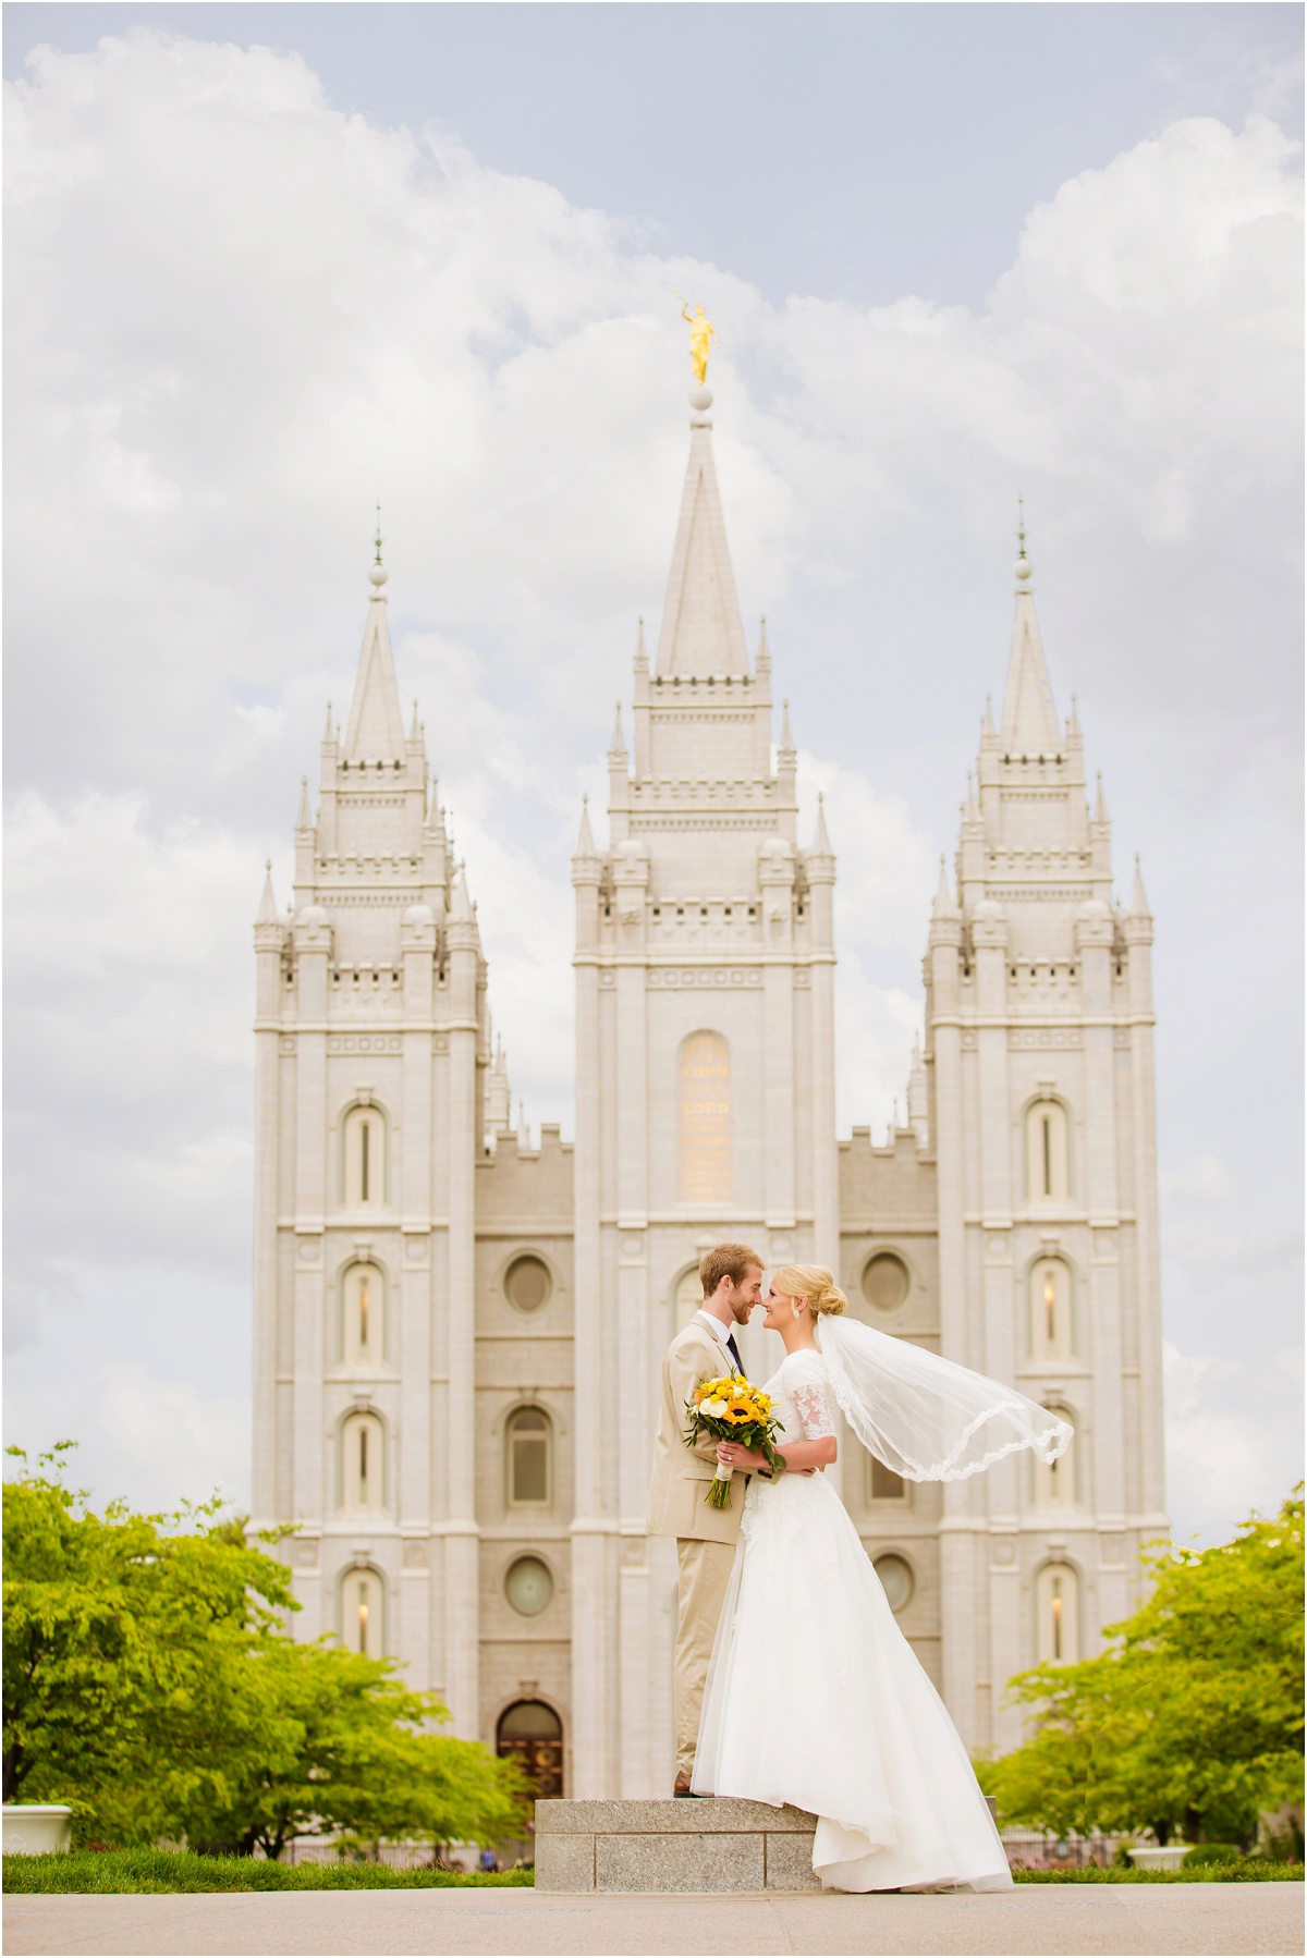
[[[96,1515],[63,1447],[4,1484],[6,1801],[69,1801],[80,1839],[268,1856],[317,1827],[372,1844],[521,1829],[519,1770],[433,1731],[435,1696],[286,1635],[286,1566],[241,1519]]]

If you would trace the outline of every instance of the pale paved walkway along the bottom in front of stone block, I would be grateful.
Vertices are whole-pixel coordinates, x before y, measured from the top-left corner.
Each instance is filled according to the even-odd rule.
[[[997,1897],[798,1893],[566,1897],[531,1889],[347,1889],[219,1897],[6,1897],[4,1950],[192,1958],[202,1952],[560,1954],[811,1952],[858,1958],[1023,1952],[1303,1950],[1301,1884],[1029,1886]]]

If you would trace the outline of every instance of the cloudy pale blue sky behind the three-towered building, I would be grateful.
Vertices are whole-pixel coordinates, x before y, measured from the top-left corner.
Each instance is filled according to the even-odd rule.
[[[686,460],[678,294],[884,1132],[1017,495],[1158,920],[1176,1535],[1299,1468],[1301,10],[47,6],[6,69],[6,1425],[249,1496],[251,922],[400,687],[527,1120]]]

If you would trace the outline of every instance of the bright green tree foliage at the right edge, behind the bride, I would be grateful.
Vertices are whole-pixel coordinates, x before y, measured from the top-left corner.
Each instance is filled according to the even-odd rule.
[[[1037,1711],[984,1770],[1003,1821],[1246,1842],[1260,1809],[1301,1799],[1301,1490],[1231,1543],[1150,1562],[1146,1604],[1101,1656],[1011,1682]]]

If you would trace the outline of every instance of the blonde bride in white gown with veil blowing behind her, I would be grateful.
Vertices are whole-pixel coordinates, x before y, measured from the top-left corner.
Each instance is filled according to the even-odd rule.
[[[749,1482],[694,1792],[809,1809],[827,1889],[1007,1888],[966,1748],[819,1470],[837,1455],[837,1406],[864,1447],[917,1482],[1025,1447],[1052,1461],[1072,1431],[997,1380],[843,1320],[823,1265],[786,1265],[764,1304],[786,1343],[766,1382],[784,1423],[778,1453],[798,1472]],[[737,1441],[717,1459],[764,1467]]]

